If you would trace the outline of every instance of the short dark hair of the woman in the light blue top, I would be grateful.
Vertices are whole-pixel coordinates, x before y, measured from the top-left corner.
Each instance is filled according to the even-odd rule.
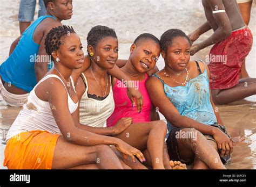
[[[160,38],[161,51],[164,51],[167,53],[167,48],[172,46],[173,40],[177,37],[186,38],[188,40],[188,42],[190,43],[190,45],[192,44],[190,41],[190,38],[188,38],[188,36],[183,31],[181,31],[177,28],[172,28],[170,30],[165,31],[161,35],[161,38]]]

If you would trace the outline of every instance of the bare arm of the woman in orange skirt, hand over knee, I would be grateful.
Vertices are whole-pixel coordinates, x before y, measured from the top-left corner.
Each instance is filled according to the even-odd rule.
[[[138,149],[131,147],[120,139],[78,128],[69,111],[68,93],[66,93],[63,84],[57,78],[49,78],[45,82],[48,83],[47,91],[49,94],[47,95],[47,100],[52,108],[53,117],[66,141],[81,146],[114,145],[123,154],[130,155],[133,161],[135,160],[134,155],[142,162],[145,160],[143,154]]]

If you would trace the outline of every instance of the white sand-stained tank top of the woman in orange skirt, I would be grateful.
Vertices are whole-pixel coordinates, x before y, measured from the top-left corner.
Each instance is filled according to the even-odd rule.
[[[22,110],[19,112],[14,123],[11,125],[10,130],[6,135],[6,141],[12,138],[12,136],[27,131],[41,130],[48,131],[52,134],[60,134],[59,127],[56,124],[51,112],[50,103],[39,99],[35,93],[37,85],[39,85],[41,82],[46,80],[46,78],[49,77],[56,77],[63,83],[63,81],[57,75],[50,74],[43,77],[42,80],[36,84],[36,86],[33,88],[28,96],[28,102],[23,105]],[[72,83],[72,87],[75,90],[72,77],[70,77],[70,80]],[[64,83],[63,85],[65,87]],[[68,93],[68,90],[66,91]],[[69,94],[68,105],[70,113],[75,112],[78,107],[78,102],[74,103]]]

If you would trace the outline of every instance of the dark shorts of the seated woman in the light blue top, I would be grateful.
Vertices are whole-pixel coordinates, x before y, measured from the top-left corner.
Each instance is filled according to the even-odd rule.
[[[231,138],[231,136],[227,133],[226,128],[223,125],[219,125],[219,124],[213,124],[211,126],[220,128],[221,131],[223,131],[228,137]],[[192,164],[194,162],[194,158],[192,158],[191,160],[183,160],[180,158],[179,156],[179,150],[178,150],[178,145],[177,145],[177,139],[176,139],[176,132],[179,132],[180,130],[183,130],[183,128],[185,127],[181,127],[181,128],[173,128],[166,140],[166,145],[168,148],[168,153],[170,156],[170,160],[173,161],[180,161],[182,163],[185,163],[187,165]],[[205,135],[205,138],[207,140],[212,140],[214,142],[216,142],[213,138],[213,136],[211,135]],[[220,151],[219,151],[220,154]],[[227,156],[223,156],[220,157],[220,160],[222,161],[223,164],[226,164],[228,160],[230,160],[230,154],[228,154]]]

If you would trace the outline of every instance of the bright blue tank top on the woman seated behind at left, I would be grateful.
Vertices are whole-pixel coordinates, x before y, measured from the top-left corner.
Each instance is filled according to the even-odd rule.
[[[0,66],[0,75],[5,82],[15,87],[30,92],[37,84],[35,73],[35,58],[37,57],[39,44],[33,41],[33,33],[39,23],[45,18],[53,16],[41,16],[35,20],[22,34],[18,45],[11,55]],[[52,63],[52,62],[49,62]],[[51,68],[51,64],[48,68]]]

